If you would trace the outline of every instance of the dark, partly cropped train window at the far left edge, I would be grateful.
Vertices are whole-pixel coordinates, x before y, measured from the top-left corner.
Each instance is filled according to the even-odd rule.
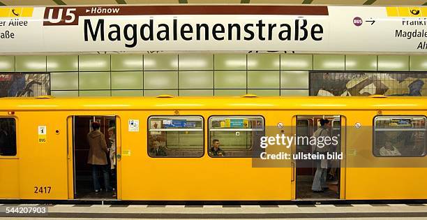
[[[13,118],[0,118],[0,156],[16,155],[16,122]]]

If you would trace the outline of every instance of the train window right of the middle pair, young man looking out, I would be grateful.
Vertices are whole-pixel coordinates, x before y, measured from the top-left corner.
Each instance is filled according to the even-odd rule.
[[[209,117],[209,156],[255,156],[264,133],[261,116]]]

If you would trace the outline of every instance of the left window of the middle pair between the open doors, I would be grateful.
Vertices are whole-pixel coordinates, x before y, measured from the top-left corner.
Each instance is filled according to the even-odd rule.
[[[148,154],[151,157],[200,157],[204,154],[203,118],[149,117]]]

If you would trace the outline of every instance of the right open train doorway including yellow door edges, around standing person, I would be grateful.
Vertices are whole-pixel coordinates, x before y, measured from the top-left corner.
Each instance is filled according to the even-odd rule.
[[[345,117],[341,115],[298,115],[292,119],[293,131],[298,136],[313,136],[320,127],[320,119],[328,119],[331,124],[329,135],[336,137],[336,145],[331,144],[329,153],[341,154],[342,159],[327,160],[326,188],[312,190],[317,161],[313,159],[292,160],[292,199],[297,200],[334,200],[345,198]],[[292,154],[313,154],[313,147],[306,142],[292,147]]]

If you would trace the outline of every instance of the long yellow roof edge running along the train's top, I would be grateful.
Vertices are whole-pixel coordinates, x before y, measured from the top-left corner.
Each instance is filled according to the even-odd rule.
[[[343,110],[427,110],[427,97],[75,97],[0,98],[0,110],[262,110],[262,109],[343,109]]]

